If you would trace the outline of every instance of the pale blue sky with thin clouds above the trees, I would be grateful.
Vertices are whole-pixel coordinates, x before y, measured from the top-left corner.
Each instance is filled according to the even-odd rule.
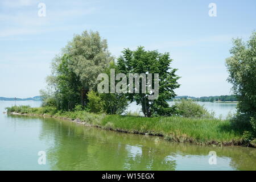
[[[38,96],[53,57],[84,30],[100,32],[115,57],[137,46],[170,52],[178,96],[232,94],[225,67],[232,38],[248,40],[255,29],[255,0],[1,0],[0,97]]]

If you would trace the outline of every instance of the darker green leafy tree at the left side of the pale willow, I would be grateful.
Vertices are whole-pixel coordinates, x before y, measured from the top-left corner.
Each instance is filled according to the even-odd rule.
[[[47,77],[48,90],[42,91],[43,105],[51,105],[61,110],[72,110],[80,103],[81,83],[79,77],[69,68],[69,56],[55,57],[52,75]]]

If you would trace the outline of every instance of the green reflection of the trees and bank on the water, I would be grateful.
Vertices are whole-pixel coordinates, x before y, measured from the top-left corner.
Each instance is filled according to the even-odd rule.
[[[11,117],[30,120],[28,117]],[[256,169],[255,148],[196,146],[162,139],[159,142],[156,137],[83,127],[51,118],[42,120],[40,139],[52,146],[47,151],[47,161],[52,169],[174,170],[177,155],[205,157],[212,150],[217,152],[218,158],[230,158],[229,165],[234,169]]]

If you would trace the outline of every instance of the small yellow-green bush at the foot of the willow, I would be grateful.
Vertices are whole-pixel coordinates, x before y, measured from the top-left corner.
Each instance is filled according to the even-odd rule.
[[[101,113],[102,111],[104,111],[104,102],[101,100],[101,97],[94,92],[93,90],[90,91],[87,94],[89,103],[88,103],[88,107],[89,110],[93,113]]]

